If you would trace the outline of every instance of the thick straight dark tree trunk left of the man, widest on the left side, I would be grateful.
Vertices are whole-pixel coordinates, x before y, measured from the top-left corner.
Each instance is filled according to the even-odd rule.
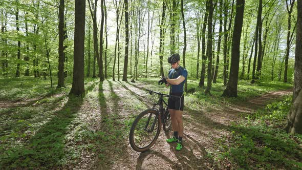
[[[95,4],[96,5],[96,4]],[[75,1],[73,79],[69,94],[84,95],[85,0]]]

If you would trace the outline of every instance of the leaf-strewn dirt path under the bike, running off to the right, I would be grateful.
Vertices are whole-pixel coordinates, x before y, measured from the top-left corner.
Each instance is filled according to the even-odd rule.
[[[129,100],[147,103],[145,92],[142,87],[146,84],[123,84],[113,91],[118,92],[119,98],[132,96]],[[112,164],[111,169],[213,169],[220,168],[213,164],[213,160],[208,153],[214,153],[212,144],[215,139],[228,135],[225,130],[232,121],[241,120],[244,115],[252,114],[256,109],[264,107],[271,100],[280,98],[283,95],[291,93],[291,90],[275,91],[264,94],[260,97],[252,98],[247,102],[238,102],[230,106],[223,106],[223,109],[211,109],[211,111],[196,111],[185,108],[184,120],[184,147],[181,152],[175,150],[176,144],[168,144],[165,139],[170,137],[170,133],[161,134],[153,147],[144,153],[138,153],[132,150],[127,136],[123,143],[117,146],[120,154],[116,155],[111,151]],[[136,98],[136,99],[135,99]],[[117,106],[117,105],[116,105]],[[125,114],[123,103],[118,103],[119,112],[122,117],[130,116]],[[139,113],[139,112],[138,112]],[[127,134],[125,134],[127,135]],[[93,168],[102,169],[103,164],[98,164],[97,160]]]

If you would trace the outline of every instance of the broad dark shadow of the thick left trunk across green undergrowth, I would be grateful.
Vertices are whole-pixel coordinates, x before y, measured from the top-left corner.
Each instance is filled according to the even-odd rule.
[[[9,168],[58,168],[68,156],[64,152],[68,126],[76,117],[83,97],[70,96],[64,107],[41,126],[23,146],[5,153],[2,165]]]

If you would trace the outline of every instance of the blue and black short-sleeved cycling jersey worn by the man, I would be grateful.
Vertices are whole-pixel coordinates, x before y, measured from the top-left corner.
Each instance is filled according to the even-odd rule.
[[[170,93],[183,93],[184,83],[187,81],[188,72],[183,67],[179,66],[176,69],[169,70],[168,77],[169,79],[178,78],[179,76],[183,76],[185,80],[178,85],[170,86]]]

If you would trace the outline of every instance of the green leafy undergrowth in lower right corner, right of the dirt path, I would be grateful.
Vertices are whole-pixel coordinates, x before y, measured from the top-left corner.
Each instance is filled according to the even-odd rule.
[[[302,135],[283,130],[291,99],[285,96],[245,121],[232,123],[228,135],[217,139],[217,160],[228,160],[242,169],[301,169]]]

